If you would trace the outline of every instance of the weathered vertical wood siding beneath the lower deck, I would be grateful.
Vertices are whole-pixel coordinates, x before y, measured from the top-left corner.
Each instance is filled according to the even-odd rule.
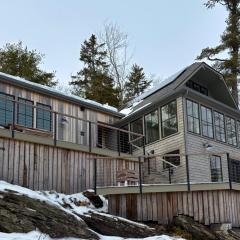
[[[171,223],[180,214],[209,225],[240,226],[240,192],[230,190],[109,195],[109,212],[137,221]]]

